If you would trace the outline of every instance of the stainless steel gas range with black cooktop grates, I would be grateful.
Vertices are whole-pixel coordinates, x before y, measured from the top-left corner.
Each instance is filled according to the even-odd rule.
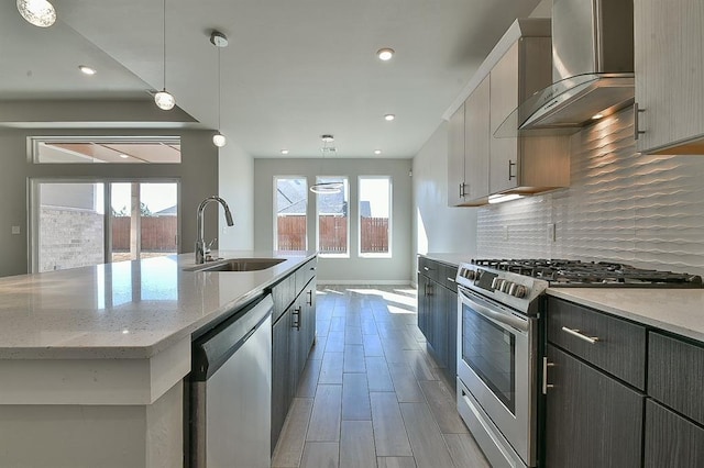
[[[544,291],[702,288],[702,278],[617,263],[479,259],[458,285],[458,411],[494,468],[539,466]]]

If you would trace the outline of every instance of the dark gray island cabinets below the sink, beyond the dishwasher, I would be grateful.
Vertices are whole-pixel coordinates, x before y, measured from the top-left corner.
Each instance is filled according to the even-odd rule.
[[[272,326],[272,452],[316,337],[315,265],[310,260],[272,291],[277,317]]]

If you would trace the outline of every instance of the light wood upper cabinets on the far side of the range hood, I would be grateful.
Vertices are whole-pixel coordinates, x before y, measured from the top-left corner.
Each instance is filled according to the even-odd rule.
[[[532,194],[570,183],[565,136],[494,136],[534,92],[552,82],[549,20],[517,20],[472,78],[449,119],[448,204],[485,204],[492,194]]]

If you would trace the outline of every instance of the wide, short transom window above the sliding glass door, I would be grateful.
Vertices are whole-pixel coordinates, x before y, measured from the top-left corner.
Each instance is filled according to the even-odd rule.
[[[37,164],[178,164],[179,137],[32,137]]]

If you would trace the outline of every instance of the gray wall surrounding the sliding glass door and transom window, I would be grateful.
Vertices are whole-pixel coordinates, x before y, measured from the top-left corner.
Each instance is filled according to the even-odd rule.
[[[182,164],[178,165],[35,165],[28,158],[29,136],[182,136]],[[196,238],[196,209],[200,201],[218,190],[218,152],[212,145],[211,131],[200,130],[0,130],[0,276],[28,272],[29,210],[28,186],[30,178],[56,177],[140,179],[168,178],[180,180],[180,250],[193,252]],[[21,234],[13,235],[12,226],[20,226]],[[206,234],[217,233],[216,210],[206,213]]]

